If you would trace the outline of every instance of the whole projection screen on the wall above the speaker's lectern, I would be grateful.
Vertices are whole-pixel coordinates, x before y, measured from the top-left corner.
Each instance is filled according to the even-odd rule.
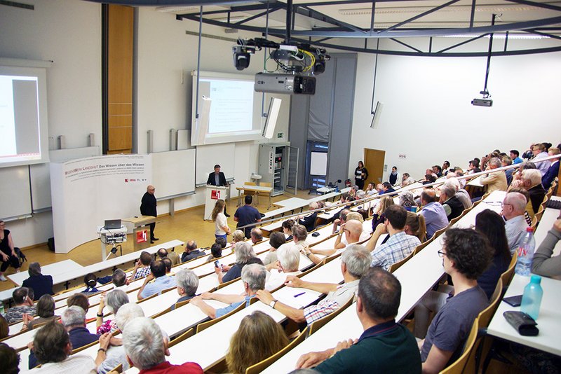
[[[262,95],[253,90],[254,76],[199,71],[198,112],[203,112],[202,97],[210,98],[208,129],[204,137],[196,123],[197,74],[193,76],[191,144],[218,144],[261,138]],[[206,118],[204,118],[206,120]],[[196,143],[194,143],[196,139]],[[200,139],[204,139],[200,141]]]

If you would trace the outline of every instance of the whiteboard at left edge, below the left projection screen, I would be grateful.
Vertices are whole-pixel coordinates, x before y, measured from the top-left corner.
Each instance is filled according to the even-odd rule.
[[[0,167],[0,181],[0,219],[31,214],[29,167]]]

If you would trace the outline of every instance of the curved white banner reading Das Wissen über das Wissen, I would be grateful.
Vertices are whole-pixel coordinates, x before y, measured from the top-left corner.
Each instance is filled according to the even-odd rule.
[[[56,253],[97,239],[108,219],[140,214],[151,184],[149,155],[104,155],[50,164]]]

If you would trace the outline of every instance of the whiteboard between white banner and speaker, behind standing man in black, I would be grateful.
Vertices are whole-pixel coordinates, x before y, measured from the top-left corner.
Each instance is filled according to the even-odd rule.
[[[195,149],[150,153],[156,198],[195,192]]]

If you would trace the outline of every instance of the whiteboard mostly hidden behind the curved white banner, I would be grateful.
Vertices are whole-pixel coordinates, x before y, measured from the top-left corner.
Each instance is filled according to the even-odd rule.
[[[100,155],[99,146],[83,148],[55,149],[48,153],[50,162],[65,162]],[[50,167],[49,164],[29,165],[31,179],[33,212],[44,211],[51,206],[50,202]]]

